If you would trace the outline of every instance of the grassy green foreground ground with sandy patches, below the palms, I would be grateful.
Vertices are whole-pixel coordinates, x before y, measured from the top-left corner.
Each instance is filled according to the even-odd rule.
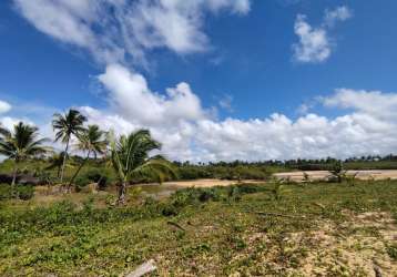
[[[133,191],[123,207],[108,193],[0,202],[0,275],[118,276],[154,258],[160,276],[366,276],[374,255],[385,276],[396,269],[396,182]]]

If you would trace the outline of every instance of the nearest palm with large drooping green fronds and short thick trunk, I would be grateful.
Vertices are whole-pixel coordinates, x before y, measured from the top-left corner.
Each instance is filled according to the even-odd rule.
[[[120,181],[118,204],[125,203],[126,185],[133,179],[150,177],[161,183],[166,176],[176,177],[170,162],[162,156],[149,156],[151,151],[160,148],[161,144],[151,137],[147,130],[112,140],[111,160]]]

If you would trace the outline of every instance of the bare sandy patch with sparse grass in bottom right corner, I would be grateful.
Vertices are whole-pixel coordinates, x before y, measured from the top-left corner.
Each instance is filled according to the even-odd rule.
[[[340,227],[357,232],[340,234]],[[374,228],[379,235],[366,234]],[[397,263],[387,254],[387,245],[394,243],[397,225],[387,213],[350,214],[350,220],[342,226],[325,223],[319,230],[292,234],[297,245],[313,245],[302,268],[293,270],[304,276],[397,276]]]

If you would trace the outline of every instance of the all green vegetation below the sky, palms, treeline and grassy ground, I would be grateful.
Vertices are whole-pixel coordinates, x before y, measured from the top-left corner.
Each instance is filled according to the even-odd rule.
[[[0,127],[0,154],[8,157],[0,163],[1,276],[122,276],[149,259],[160,276],[397,271],[397,182],[347,174],[393,167],[391,155],[171,163],[151,155],[161,144],[147,130],[115,137],[84,122],[74,110],[54,114],[62,153],[43,146],[34,126]],[[69,156],[70,146],[83,157]],[[295,170],[332,175],[272,178]],[[135,186],[196,178],[235,184]]]

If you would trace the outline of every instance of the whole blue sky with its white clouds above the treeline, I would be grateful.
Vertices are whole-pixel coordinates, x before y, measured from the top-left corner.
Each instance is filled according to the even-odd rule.
[[[95,10],[91,0],[0,2],[0,101],[12,106],[0,114],[3,124],[23,119],[50,135],[52,112],[77,106],[120,133],[150,127],[170,157],[192,161],[387,154],[397,146],[369,146],[394,126],[396,1],[95,2]],[[125,40],[122,28],[130,29]],[[146,83],[141,91],[133,76]],[[185,86],[167,94],[181,82],[187,94]],[[153,119],[144,114],[151,109]],[[316,124],[325,130],[307,127]],[[196,135],[205,132],[210,138]]]

